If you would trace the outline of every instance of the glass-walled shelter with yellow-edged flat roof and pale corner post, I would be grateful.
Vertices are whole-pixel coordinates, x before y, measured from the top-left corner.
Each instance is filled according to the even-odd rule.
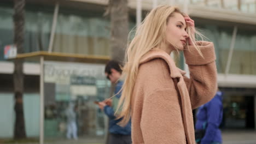
[[[109,97],[110,82],[104,75],[109,57],[39,51],[12,59],[40,65],[40,144],[45,137],[66,136],[65,111],[71,103],[77,115],[78,135],[105,138],[107,118],[94,101]]]

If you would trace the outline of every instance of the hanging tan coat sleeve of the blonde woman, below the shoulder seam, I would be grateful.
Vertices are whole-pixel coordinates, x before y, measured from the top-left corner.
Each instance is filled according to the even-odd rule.
[[[152,94],[144,95],[141,130],[147,144],[186,143],[175,88],[155,90]]]

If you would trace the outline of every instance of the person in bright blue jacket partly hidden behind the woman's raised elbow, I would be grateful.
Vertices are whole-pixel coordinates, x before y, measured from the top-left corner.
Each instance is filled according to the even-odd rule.
[[[205,130],[200,144],[222,143],[222,133],[219,129],[223,117],[222,95],[223,93],[218,91],[211,101],[200,106],[197,111],[195,129]]]

